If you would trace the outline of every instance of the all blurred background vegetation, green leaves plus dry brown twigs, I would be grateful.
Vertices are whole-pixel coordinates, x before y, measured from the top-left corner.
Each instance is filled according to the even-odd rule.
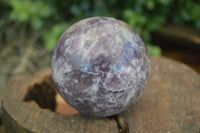
[[[61,34],[87,17],[107,16],[125,21],[160,56],[152,33],[168,23],[200,31],[199,0],[0,0],[0,90],[12,74],[50,66]]]

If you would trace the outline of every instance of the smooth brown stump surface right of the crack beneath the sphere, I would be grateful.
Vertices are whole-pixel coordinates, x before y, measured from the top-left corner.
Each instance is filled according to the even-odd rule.
[[[121,115],[131,133],[199,133],[200,76],[166,58],[151,60],[151,76],[139,101]]]

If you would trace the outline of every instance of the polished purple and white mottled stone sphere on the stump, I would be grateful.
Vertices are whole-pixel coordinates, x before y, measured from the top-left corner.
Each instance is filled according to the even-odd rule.
[[[127,109],[142,95],[150,58],[144,42],[126,23],[94,17],[65,31],[51,67],[67,103],[81,113],[104,117]]]

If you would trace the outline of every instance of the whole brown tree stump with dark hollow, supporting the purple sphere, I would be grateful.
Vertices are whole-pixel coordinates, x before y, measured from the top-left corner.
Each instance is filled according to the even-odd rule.
[[[2,96],[3,124],[8,133],[199,133],[200,76],[170,59],[151,61],[142,97],[118,116],[106,118],[79,114],[62,102],[50,69],[14,76]]]

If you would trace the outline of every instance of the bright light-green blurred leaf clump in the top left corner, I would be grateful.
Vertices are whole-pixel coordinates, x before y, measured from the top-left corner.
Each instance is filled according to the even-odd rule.
[[[34,29],[44,27],[44,19],[50,17],[53,13],[51,5],[40,0],[10,0],[12,11],[11,20],[19,22],[27,21]]]

